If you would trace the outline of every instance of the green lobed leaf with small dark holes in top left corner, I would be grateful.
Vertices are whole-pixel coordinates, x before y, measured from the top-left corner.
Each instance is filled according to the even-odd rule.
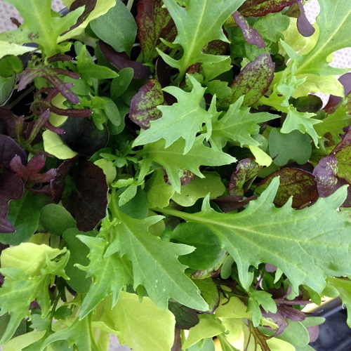
[[[51,10],[51,0],[28,0],[25,3],[21,0],[6,0],[6,2],[18,9],[24,23],[18,29],[1,33],[0,40],[20,45],[39,44],[48,57],[67,51],[70,44],[58,44],[58,37],[74,25],[84,11],[84,7],[80,7],[62,17]]]

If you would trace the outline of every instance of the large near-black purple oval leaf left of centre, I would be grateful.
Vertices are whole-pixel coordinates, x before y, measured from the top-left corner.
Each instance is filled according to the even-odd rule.
[[[62,199],[62,204],[77,220],[83,232],[93,230],[106,216],[106,176],[91,161],[84,161],[72,169],[74,190]]]

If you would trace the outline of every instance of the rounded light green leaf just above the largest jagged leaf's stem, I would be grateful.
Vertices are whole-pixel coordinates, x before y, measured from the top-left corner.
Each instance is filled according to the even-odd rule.
[[[204,172],[205,178],[195,178],[180,188],[180,194],[173,194],[172,200],[180,206],[192,206],[198,199],[210,194],[211,199],[220,197],[225,191],[220,176],[217,173]]]

